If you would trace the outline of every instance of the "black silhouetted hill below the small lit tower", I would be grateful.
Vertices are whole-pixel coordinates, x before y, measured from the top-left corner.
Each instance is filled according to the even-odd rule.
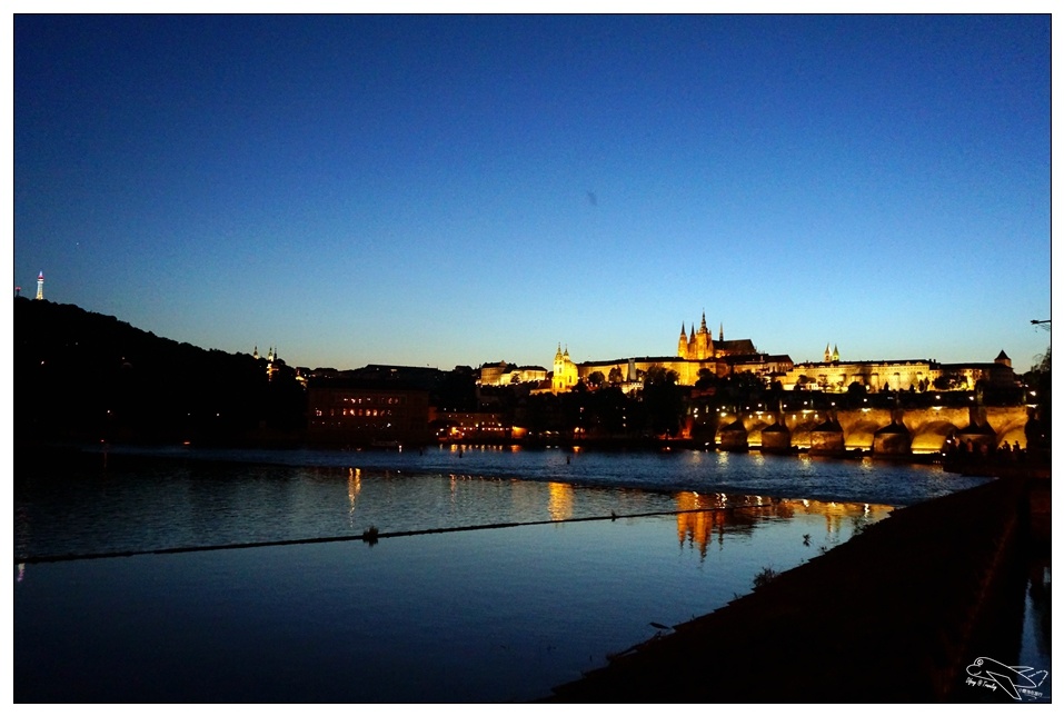
[[[295,370],[160,338],[112,316],[14,299],[14,437],[239,444],[295,439]]]

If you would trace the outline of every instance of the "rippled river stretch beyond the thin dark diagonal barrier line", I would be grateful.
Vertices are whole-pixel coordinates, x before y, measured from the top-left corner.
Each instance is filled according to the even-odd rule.
[[[729,506],[748,504],[742,495],[904,504],[968,486],[912,466],[876,465],[873,473],[871,465],[804,456],[466,448],[458,461],[448,447],[365,453],[357,461],[350,453],[270,456],[321,461],[309,467],[231,460],[243,455],[205,455],[215,461],[127,456],[103,474],[93,463],[48,479],[17,475],[14,556],[327,538],[369,526],[385,534],[665,513],[675,511],[677,491],[719,495]],[[849,495],[859,499],[844,499]]]

